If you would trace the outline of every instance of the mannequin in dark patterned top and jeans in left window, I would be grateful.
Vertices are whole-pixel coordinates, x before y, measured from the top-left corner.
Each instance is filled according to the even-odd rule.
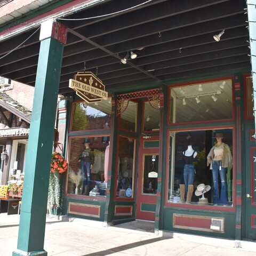
[[[91,169],[94,164],[93,149],[90,148],[89,139],[84,140],[84,150],[79,157],[78,162],[81,162],[82,175],[83,175],[83,191],[82,194],[88,194],[89,191],[85,191],[86,185],[91,185]]]

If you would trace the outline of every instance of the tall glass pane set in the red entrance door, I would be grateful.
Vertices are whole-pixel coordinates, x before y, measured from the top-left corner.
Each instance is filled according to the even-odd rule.
[[[158,155],[144,156],[143,193],[156,194],[158,177]]]

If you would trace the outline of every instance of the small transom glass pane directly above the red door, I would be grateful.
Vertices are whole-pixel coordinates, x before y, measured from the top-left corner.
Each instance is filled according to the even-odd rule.
[[[144,102],[143,131],[159,131],[160,109],[150,106],[149,102]]]

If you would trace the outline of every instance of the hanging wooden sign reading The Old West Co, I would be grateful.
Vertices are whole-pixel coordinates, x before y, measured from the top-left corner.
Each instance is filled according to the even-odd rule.
[[[92,72],[78,72],[75,79],[69,79],[69,87],[88,103],[108,98],[105,85]]]

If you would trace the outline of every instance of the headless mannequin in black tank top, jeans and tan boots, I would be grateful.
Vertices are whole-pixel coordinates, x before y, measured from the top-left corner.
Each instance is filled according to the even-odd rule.
[[[185,202],[186,196],[186,204],[191,203],[191,198],[193,196],[194,191],[194,179],[195,179],[195,166],[193,161],[197,155],[197,152],[192,148],[191,145],[188,146],[187,150],[183,151],[183,159],[185,162],[183,169],[184,183],[180,184],[180,203]]]

